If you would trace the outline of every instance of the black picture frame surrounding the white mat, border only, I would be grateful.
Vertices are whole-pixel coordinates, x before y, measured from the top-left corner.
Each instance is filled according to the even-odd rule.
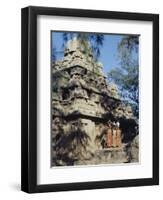
[[[153,23],[153,177],[37,184],[37,16],[55,15]],[[159,15],[30,6],[21,12],[21,190],[28,193],[159,184]]]

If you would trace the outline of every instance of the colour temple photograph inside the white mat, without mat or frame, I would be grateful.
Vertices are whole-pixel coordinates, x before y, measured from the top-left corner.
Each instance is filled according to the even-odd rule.
[[[49,34],[51,167],[138,164],[140,35]]]

